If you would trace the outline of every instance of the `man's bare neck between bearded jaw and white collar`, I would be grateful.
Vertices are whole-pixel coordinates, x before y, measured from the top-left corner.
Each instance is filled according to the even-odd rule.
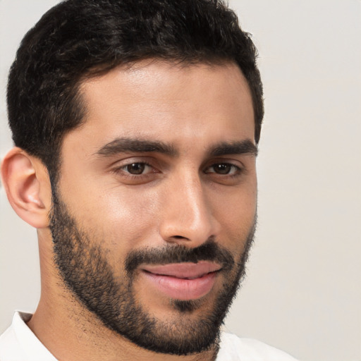
[[[70,307],[58,307],[42,298],[27,326],[57,360],[215,360],[216,347],[188,356],[164,355],[140,348],[107,329],[97,317],[73,300]]]

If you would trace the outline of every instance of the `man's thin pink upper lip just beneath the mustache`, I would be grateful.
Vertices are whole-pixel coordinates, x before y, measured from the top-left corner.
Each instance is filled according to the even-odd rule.
[[[158,276],[171,276],[177,279],[197,279],[206,274],[219,271],[221,266],[214,262],[200,261],[198,263],[146,264],[141,268],[143,271]]]

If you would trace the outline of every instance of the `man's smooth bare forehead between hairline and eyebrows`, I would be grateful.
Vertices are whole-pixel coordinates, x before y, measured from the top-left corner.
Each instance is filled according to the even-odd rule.
[[[115,137],[172,145],[190,144],[195,136],[207,143],[222,137],[254,141],[252,97],[233,63],[142,61],[85,80],[80,92],[85,122],[65,141],[73,137],[93,151]]]

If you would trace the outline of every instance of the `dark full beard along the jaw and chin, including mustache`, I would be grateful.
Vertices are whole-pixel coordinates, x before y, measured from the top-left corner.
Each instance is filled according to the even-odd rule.
[[[108,329],[136,345],[156,353],[190,355],[218,350],[219,330],[224,322],[241,279],[253,242],[252,225],[243,253],[234,259],[214,238],[195,248],[167,244],[164,247],[133,250],[128,253],[123,274],[115,274],[100,247],[102,239],[80,229],[66,205],[53,191],[50,230],[54,243],[54,262],[65,286],[80,304],[92,312]],[[140,264],[170,264],[200,261],[221,264],[223,287],[209,307],[209,300],[170,300],[177,313],[169,322],[157,319],[136,298],[133,282]],[[208,303],[207,303],[208,302]],[[205,307],[204,307],[205,305]],[[204,307],[204,310],[202,310]],[[197,312],[200,311],[200,312]]]

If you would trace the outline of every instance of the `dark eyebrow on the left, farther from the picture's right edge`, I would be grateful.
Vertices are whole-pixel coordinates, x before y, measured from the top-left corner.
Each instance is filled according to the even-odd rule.
[[[104,145],[104,147],[100,148],[96,154],[109,157],[115,154],[127,152],[157,152],[169,155],[170,157],[176,157],[178,155],[178,152],[172,145],[168,145],[164,142],[131,138],[116,138]]]

